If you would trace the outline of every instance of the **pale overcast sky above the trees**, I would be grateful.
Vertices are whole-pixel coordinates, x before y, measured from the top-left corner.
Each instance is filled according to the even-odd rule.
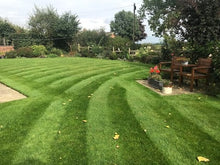
[[[0,0],[0,17],[16,25],[27,27],[35,5],[40,8],[52,6],[59,14],[71,11],[72,14],[78,15],[82,28],[103,27],[105,31],[110,31],[109,24],[114,19],[114,15],[121,10],[133,12],[134,3],[138,9],[142,0]],[[145,42],[159,42],[158,38],[152,36],[147,21],[144,24],[148,34]]]

